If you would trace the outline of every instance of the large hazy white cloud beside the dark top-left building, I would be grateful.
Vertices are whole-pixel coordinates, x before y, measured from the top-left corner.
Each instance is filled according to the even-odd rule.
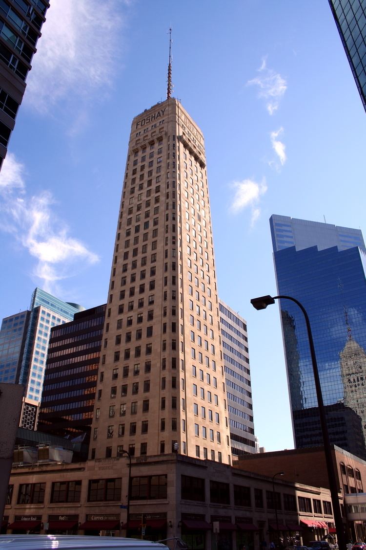
[[[106,89],[122,40],[123,0],[52,0],[27,81],[25,103],[39,112]]]

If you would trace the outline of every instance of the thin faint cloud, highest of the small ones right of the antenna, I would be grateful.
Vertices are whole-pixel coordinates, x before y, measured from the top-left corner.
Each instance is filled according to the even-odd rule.
[[[279,107],[280,100],[286,91],[287,83],[279,73],[267,68],[266,58],[262,59],[258,73],[259,75],[256,78],[249,80],[246,84],[249,86],[258,86],[258,95],[266,101],[267,111],[272,115]]]

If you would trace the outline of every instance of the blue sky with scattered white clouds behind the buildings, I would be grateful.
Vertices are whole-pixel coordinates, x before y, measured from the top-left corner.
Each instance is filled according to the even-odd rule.
[[[206,141],[219,296],[249,331],[254,419],[292,448],[273,213],[364,225],[366,118],[326,0],[51,0],[0,175],[1,317],[38,285],[105,303],[131,121],[173,95]],[[364,235],[366,233],[364,232]]]

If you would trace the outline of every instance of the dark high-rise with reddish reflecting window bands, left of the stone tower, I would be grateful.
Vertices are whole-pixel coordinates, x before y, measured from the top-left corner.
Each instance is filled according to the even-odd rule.
[[[51,329],[38,430],[89,442],[105,305]]]

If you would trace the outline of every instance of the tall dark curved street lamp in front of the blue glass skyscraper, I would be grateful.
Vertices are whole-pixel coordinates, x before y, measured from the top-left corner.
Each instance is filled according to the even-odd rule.
[[[329,443],[328,426],[326,425],[323,394],[322,394],[322,388],[320,386],[317,357],[315,354],[313,335],[311,332],[310,321],[309,321],[307,311],[305,307],[303,307],[303,305],[299,302],[299,300],[292,298],[292,296],[273,296],[273,297],[261,296],[260,298],[253,298],[252,300],[250,300],[250,303],[252,304],[252,306],[255,307],[256,310],[262,310],[262,309],[266,309],[268,305],[274,304],[274,300],[278,300],[278,299],[291,300],[292,302],[295,302],[295,304],[297,304],[300,307],[303,313],[303,316],[305,317],[307,335],[309,340],[310,355],[311,355],[311,360],[313,365],[314,383],[315,383],[317,400],[318,400],[320,426],[322,427],[322,434],[323,434],[325,464],[326,464],[326,469],[328,470],[328,481],[329,481],[331,502],[333,505],[334,522],[335,522],[337,538],[339,542],[339,548],[340,550],[346,550],[346,536],[344,532],[341,507],[340,507],[339,497],[338,497],[339,484],[337,484],[336,477],[335,477],[335,469],[333,464],[333,458],[331,455],[331,447]]]

